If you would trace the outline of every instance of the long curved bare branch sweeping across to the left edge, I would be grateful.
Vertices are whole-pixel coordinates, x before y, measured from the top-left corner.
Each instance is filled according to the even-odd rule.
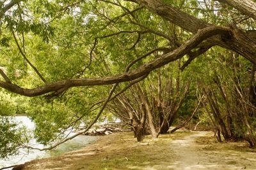
[[[193,48],[199,45],[205,39],[214,36],[221,35],[223,37],[231,37],[232,31],[228,27],[212,26],[207,27],[198,31],[191,39],[183,43],[179,48],[164,54],[162,57],[154,59],[142,66],[129,71],[127,73],[117,74],[114,76],[108,76],[104,78],[81,78],[81,79],[70,79],[63,81],[55,81],[52,83],[47,83],[41,87],[35,89],[24,89],[12,83],[0,81],[0,87],[9,90],[10,92],[20,94],[23,96],[39,96],[42,94],[47,94],[49,92],[54,92],[63,88],[70,87],[81,87],[81,86],[95,86],[95,85],[109,85],[114,83],[120,83],[124,81],[131,81],[145,74],[150,73],[151,71],[172,62],[173,60],[180,59],[186,53],[190,52]]]

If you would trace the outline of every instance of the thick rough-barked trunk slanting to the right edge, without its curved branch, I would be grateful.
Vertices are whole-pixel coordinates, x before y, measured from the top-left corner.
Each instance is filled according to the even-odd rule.
[[[156,13],[157,15],[165,18],[169,22],[172,22],[175,25],[178,25],[182,29],[193,32],[194,34],[206,27],[211,26],[205,22],[204,20],[200,20],[184,11],[181,11],[173,6],[165,4],[161,0],[125,0],[132,1],[134,3],[138,3],[141,6],[144,6],[148,10]],[[236,0],[238,1],[238,0]],[[245,0],[244,0],[245,1]],[[249,1],[249,0],[248,0]],[[220,36],[215,36],[209,38],[207,41],[212,44],[218,44],[223,48],[227,48],[228,50],[233,50],[234,52],[243,55],[246,59],[250,60],[254,64],[256,64],[256,45],[255,39],[253,39],[250,34],[247,32],[240,31],[239,29],[232,28],[232,31],[236,36],[234,38],[221,38]]]

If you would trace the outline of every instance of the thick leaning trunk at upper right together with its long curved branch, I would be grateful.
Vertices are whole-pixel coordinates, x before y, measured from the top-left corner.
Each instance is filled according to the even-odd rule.
[[[240,55],[250,60],[251,62],[253,63],[256,62],[256,60],[254,59],[255,51],[253,50],[255,49],[253,48],[255,44],[253,41],[253,38],[254,38],[253,35],[255,31],[253,31],[252,29],[242,31],[241,29],[239,29],[239,27],[237,27],[236,23],[234,23],[234,25],[230,25],[230,27],[223,27],[223,26],[216,26],[213,24],[209,24],[202,19],[193,17],[188,13],[185,13],[173,6],[170,6],[170,4],[166,4],[158,0],[147,0],[147,1],[138,0],[138,1],[132,1],[132,2],[147,8],[152,13],[156,13],[157,15],[163,17],[165,20],[168,20],[172,24],[178,25],[182,29],[192,32],[195,35],[192,36],[191,39],[186,41],[186,43],[182,43],[182,45],[180,45],[178,48],[176,48],[172,52],[168,52],[164,54],[162,57],[159,57],[159,59],[152,60],[147,64],[143,64],[137,69],[133,69],[132,71],[129,71],[127,73],[116,74],[115,76],[109,76],[105,78],[80,78],[80,79],[53,81],[51,83],[46,83],[45,85],[42,85],[41,87],[37,87],[35,89],[25,89],[17,85],[14,85],[13,83],[10,83],[10,80],[8,80],[6,76],[4,76],[6,80],[1,81],[0,86],[4,89],[10,90],[11,92],[21,94],[24,96],[38,96],[42,94],[47,94],[49,92],[56,92],[56,94],[60,94],[61,92],[69,89],[70,87],[90,86],[90,85],[108,85],[112,83],[130,81],[130,80],[135,80],[136,78],[140,78],[141,76],[148,74],[150,71],[158,67],[161,67],[164,64],[167,64],[168,62],[172,62],[173,60],[177,60],[183,57],[184,55],[191,52],[193,48],[199,48],[199,50],[196,51],[194,53],[194,56],[192,56],[191,58],[195,58],[196,54],[205,52],[205,50],[208,50],[209,48],[215,45],[219,45],[223,48],[227,48],[228,50],[234,50],[234,52],[239,53]],[[244,2],[250,2],[253,4],[252,1],[244,1]],[[11,5],[15,6],[16,4],[20,4],[20,1],[17,1],[17,2],[12,1]],[[49,5],[50,4],[51,3],[49,3]],[[115,4],[115,5],[118,5],[118,4]],[[236,5],[241,6],[239,4],[236,4]],[[10,4],[5,5],[2,13],[6,12],[7,11],[6,9],[10,9],[9,6]],[[119,6],[122,7],[122,5],[119,5]],[[250,13],[250,14],[252,13],[252,11],[248,10],[246,6],[243,6],[243,7],[244,8],[241,11],[242,13],[245,13],[244,10],[246,10],[247,13]],[[8,17],[6,17],[4,21],[10,22],[10,20],[7,20]],[[51,16],[48,16],[48,17],[51,17]],[[21,28],[11,27],[11,29],[21,29]],[[46,28],[46,29],[49,29],[49,28]],[[42,36],[45,36],[43,34],[47,32],[36,32],[36,33],[39,33],[39,34],[42,34]],[[45,37],[45,40],[47,40],[47,37]],[[207,41],[202,43],[202,41],[204,40],[207,40]]]

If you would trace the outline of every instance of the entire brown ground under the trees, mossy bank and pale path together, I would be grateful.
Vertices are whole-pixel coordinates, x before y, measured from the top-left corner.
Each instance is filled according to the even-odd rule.
[[[138,143],[131,132],[102,136],[59,157],[33,160],[30,169],[256,169],[256,150],[244,142],[216,143],[212,132],[174,132]]]

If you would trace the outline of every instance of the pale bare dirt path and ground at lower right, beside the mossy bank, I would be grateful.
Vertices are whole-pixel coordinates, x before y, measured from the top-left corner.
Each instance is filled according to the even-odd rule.
[[[178,159],[168,167],[171,169],[256,169],[255,152],[226,150],[225,146],[224,150],[214,150],[214,148],[211,149],[211,145],[200,145],[195,142],[196,138],[202,136],[209,136],[209,132],[194,132],[183,139],[173,140],[170,145]],[[220,145],[225,144],[219,143]]]

